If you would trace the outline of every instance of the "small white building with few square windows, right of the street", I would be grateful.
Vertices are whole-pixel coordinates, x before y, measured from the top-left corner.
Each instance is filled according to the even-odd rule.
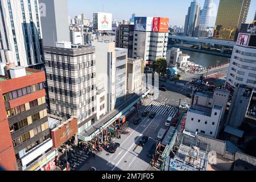
[[[222,106],[193,105],[187,113],[185,130],[217,138],[222,112],[224,112]]]

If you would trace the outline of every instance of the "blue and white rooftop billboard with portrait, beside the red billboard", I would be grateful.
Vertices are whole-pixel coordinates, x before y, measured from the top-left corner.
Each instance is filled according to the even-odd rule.
[[[152,17],[135,17],[134,24],[135,24],[135,31],[152,31]]]

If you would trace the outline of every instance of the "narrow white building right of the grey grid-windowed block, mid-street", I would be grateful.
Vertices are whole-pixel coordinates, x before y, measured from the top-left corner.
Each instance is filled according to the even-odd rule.
[[[92,42],[96,48],[97,118],[125,101],[127,49],[115,48],[114,42]]]

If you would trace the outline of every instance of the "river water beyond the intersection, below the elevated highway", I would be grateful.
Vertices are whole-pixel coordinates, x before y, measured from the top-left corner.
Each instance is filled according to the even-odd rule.
[[[190,60],[195,63],[202,65],[203,67],[209,67],[217,64],[228,63],[228,57],[209,55],[207,53],[193,52],[181,49],[182,53],[190,56]]]

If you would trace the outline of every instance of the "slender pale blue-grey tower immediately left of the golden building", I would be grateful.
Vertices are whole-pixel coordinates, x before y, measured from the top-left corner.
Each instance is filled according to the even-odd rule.
[[[209,31],[207,31],[207,27],[209,26],[210,19],[210,9],[212,8],[212,0],[205,0],[204,8],[201,10],[200,16],[200,24],[197,36],[200,38],[208,38]]]

